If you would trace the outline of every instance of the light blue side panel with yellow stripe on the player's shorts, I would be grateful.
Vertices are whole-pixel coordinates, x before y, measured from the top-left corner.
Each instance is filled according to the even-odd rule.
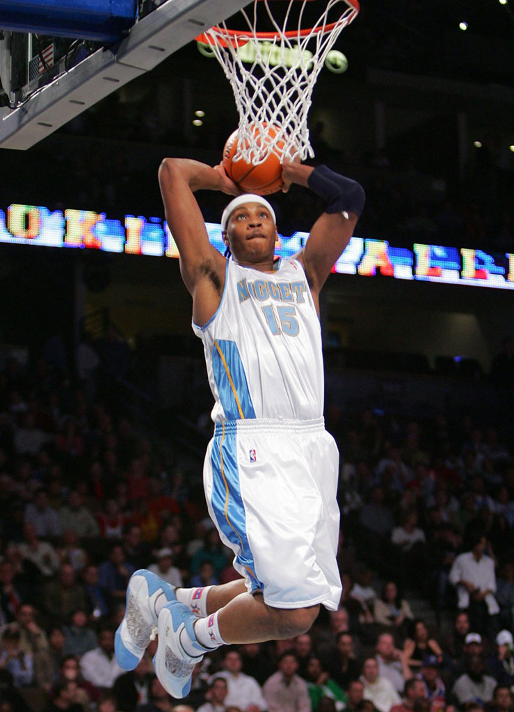
[[[221,532],[234,545],[238,554],[236,561],[244,567],[251,579],[252,590],[262,589],[256,577],[255,562],[246,536],[244,511],[236,457],[237,433],[222,432],[214,438],[211,451],[213,486],[211,506]]]

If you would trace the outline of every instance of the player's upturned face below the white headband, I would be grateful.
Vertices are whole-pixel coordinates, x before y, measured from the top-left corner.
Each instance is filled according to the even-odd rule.
[[[266,206],[243,203],[231,213],[225,242],[236,259],[257,262],[272,258],[276,239],[276,226]]]

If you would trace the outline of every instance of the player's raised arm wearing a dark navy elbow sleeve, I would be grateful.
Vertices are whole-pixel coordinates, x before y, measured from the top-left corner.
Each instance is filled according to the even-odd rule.
[[[327,203],[315,221],[307,244],[298,255],[303,262],[311,290],[319,293],[337,258],[353,234],[364,208],[364,190],[357,181],[335,173],[326,166],[313,168],[298,162],[284,162],[284,189],[291,183],[304,185]]]

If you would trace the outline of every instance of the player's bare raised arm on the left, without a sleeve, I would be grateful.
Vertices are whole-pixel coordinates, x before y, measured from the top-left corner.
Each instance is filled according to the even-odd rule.
[[[180,270],[187,289],[194,297],[199,281],[224,272],[224,257],[209,242],[204,218],[194,197],[196,190],[239,193],[236,184],[221,166],[184,158],[165,158],[159,167],[159,186],[164,214],[180,254]],[[210,271],[210,272],[209,272]]]

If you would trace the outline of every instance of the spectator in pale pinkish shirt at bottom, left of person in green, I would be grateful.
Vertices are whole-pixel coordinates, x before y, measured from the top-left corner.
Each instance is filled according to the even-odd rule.
[[[292,652],[285,651],[278,660],[278,671],[263,686],[268,712],[310,712],[307,683],[296,674],[298,661]]]

